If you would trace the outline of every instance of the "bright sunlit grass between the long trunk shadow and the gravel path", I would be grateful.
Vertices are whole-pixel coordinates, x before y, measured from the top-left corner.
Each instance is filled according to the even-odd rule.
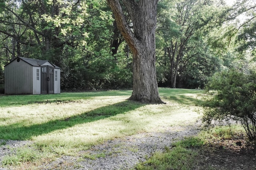
[[[72,154],[70,148],[82,150],[87,149],[95,143],[101,143],[126,135],[133,135],[145,131],[164,131],[165,128],[173,125],[189,125],[189,123],[196,121],[199,116],[192,109],[181,109],[178,107],[170,109],[168,104],[163,106],[144,106],[140,104],[138,105],[139,107],[129,108],[127,111],[124,108],[124,104],[121,106],[122,109],[118,111],[114,108],[114,114],[110,117],[107,116],[95,121],[75,123],[72,126],[66,126],[65,128],[56,129],[46,134],[34,136],[32,139],[40,146],[62,146],[63,154]],[[104,110],[105,112],[111,112],[112,109]],[[99,112],[96,111],[94,114],[98,114],[99,117],[101,112],[102,110]],[[87,118],[84,117],[84,119]]]

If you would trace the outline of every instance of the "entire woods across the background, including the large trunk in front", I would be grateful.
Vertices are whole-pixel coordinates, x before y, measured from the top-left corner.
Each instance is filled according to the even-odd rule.
[[[0,8],[1,92],[4,65],[16,57],[60,66],[62,91],[133,87],[131,98],[155,102],[157,86],[204,88],[215,72],[255,63],[252,0],[13,0]]]

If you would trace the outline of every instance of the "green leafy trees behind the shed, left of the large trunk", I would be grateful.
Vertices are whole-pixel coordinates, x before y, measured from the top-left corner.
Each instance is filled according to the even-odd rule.
[[[18,56],[48,59],[62,68],[62,90],[131,87],[130,59],[122,51],[109,57],[114,19],[106,2],[13,1],[2,9],[2,66]]]

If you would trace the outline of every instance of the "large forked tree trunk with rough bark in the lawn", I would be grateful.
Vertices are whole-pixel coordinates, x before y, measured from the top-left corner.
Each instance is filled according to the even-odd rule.
[[[156,80],[156,6],[158,0],[123,0],[133,23],[133,32],[124,18],[119,0],[107,0],[118,29],[133,54],[133,92],[130,100],[163,103]]]

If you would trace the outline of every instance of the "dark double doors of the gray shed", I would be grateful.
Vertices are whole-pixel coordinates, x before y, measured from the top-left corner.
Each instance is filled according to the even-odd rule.
[[[41,94],[54,93],[54,68],[41,66]]]

